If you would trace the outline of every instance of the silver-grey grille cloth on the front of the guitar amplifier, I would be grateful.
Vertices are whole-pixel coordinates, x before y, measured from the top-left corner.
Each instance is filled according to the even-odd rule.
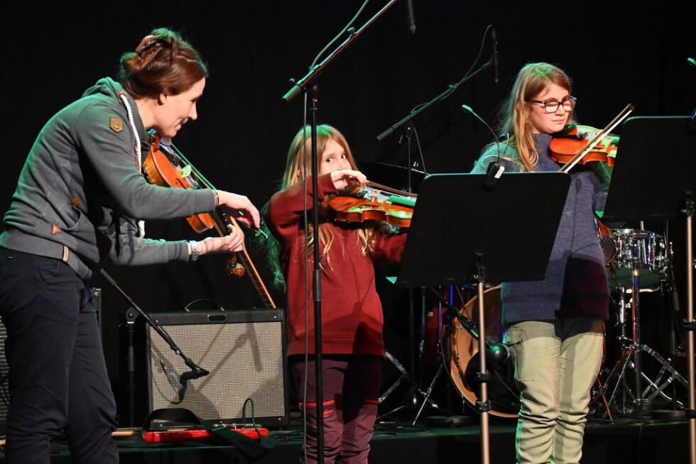
[[[163,326],[190,360],[209,375],[187,382],[178,402],[183,359],[148,326],[152,409],[190,409],[203,419],[282,416],[285,411],[282,322]]]

